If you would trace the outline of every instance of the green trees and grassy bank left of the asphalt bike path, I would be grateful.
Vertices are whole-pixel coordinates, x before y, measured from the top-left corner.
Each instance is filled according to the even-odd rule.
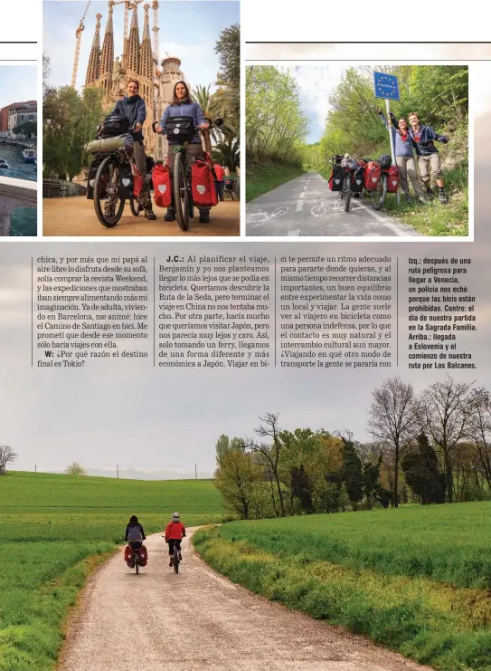
[[[308,132],[297,82],[269,65],[246,69],[246,200],[299,177]]]

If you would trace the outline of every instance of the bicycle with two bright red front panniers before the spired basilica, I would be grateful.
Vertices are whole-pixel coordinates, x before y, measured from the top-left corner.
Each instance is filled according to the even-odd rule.
[[[216,119],[210,123],[210,129],[220,128],[222,124],[222,119]],[[164,127],[154,121],[152,129],[156,133],[165,133],[169,151],[174,153],[174,169],[169,168],[167,157],[167,164],[157,162],[152,172],[156,206],[174,206],[179,228],[187,231],[189,220],[194,218],[194,206],[209,209],[218,203],[212,158],[203,152],[190,162],[186,154],[189,143],[201,130],[200,126],[194,125],[193,117],[169,117]]]

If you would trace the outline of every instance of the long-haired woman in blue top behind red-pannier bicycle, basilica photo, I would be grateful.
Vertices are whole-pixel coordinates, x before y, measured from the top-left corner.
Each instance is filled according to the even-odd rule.
[[[197,102],[191,100],[191,95],[187,84],[185,81],[177,81],[174,87],[174,100],[172,104],[167,105],[164,110],[162,119],[160,120],[160,126],[156,127],[157,133],[165,132],[165,121],[170,117],[193,117],[194,126],[201,129],[209,129],[210,124],[205,120],[203,110]],[[175,154],[172,151],[172,144],[169,142],[169,168],[174,170],[174,160]],[[203,147],[201,143],[201,137],[199,131],[196,132],[194,138],[189,142],[186,147],[186,158],[187,163],[191,166],[193,158],[195,156],[201,156],[203,154]],[[170,207],[167,207],[167,214],[164,217],[165,221],[174,221],[175,220],[175,200],[174,194],[172,195],[172,204]],[[210,208],[201,207],[200,208],[200,223],[209,224],[210,223]]]

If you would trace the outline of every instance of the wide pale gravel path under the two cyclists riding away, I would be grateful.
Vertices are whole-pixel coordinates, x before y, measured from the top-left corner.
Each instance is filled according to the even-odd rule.
[[[121,551],[91,578],[59,671],[427,669],[233,585],[187,539],[178,575],[167,565],[161,534],[146,546],[149,562],[140,575],[127,569]]]

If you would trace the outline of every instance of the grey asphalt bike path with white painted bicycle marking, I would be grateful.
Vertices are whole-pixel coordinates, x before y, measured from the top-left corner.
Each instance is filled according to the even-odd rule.
[[[393,198],[388,194],[387,198]],[[324,177],[307,172],[251,200],[246,206],[246,235],[420,236],[411,226],[373,209],[370,200],[351,199],[350,210]]]

